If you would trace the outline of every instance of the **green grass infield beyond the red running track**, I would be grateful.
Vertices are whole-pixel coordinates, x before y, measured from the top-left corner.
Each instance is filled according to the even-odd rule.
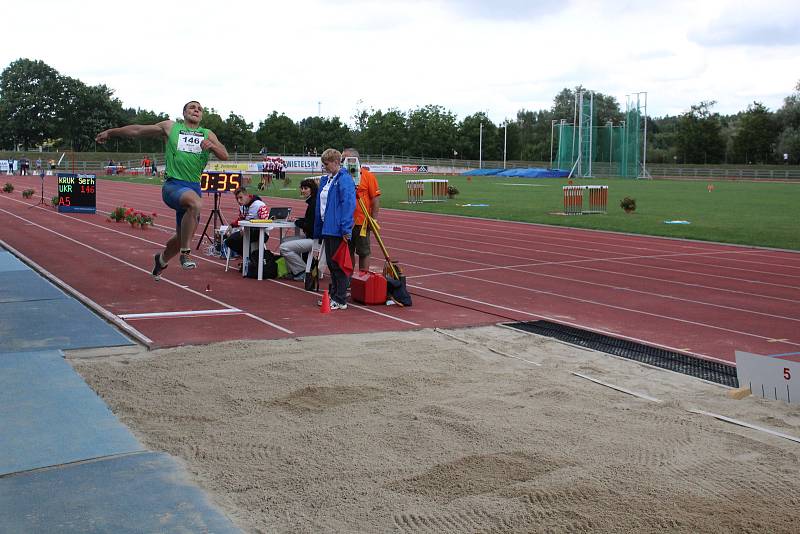
[[[290,178],[290,189],[282,189],[278,182],[267,195],[298,198],[302,176]],[[455,198],[406,204],[409,178],[419,176],[378,176],[383,207],[800,250],[800,183],[582,179],[575,184],[608,185],[608,213],[565,216],[558,213],[563,212],[561,188],[567,185],[566,179],[472,177],[468,181],[465,176],[449,176],[450,184],[460,191]],[[712,192],[708,183],[714,184]],[[634,213],[619,207],[625,196],[636,199]],[[665,224],[666,220],[691,224]]]

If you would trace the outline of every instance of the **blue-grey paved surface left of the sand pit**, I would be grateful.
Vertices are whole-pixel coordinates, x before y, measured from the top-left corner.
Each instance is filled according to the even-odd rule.
[[[179,461],[120,423],[63,352],[134,346],[0,248],[0,531],[239,532]]]

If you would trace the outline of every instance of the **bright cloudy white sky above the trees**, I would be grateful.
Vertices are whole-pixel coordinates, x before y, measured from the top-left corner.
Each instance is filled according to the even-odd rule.
[[[800,81],[800,2],[783,0],[15,1],[0,68],[39,59],[126,107],[294,120],[437,104],[496,123],[564,87],[647,92],[648,114],[716,100],[775,110]]]

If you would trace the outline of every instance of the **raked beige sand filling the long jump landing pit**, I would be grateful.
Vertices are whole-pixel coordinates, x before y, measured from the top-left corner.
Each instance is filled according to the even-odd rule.
[[[800,437],[797,405],[506,328],[449,332],[468,343],[421,330],[72,363],[247,532],[800,531],[800,443],[688,411]]]

